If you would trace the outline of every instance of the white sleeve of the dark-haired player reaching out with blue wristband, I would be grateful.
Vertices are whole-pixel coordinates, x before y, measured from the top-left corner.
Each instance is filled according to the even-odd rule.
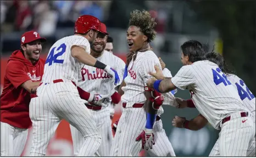
[[[182,66],[177,74],[171,78],[171,82],[182,90],[185,90],[191,84],[195,84],[194,74],[190,65]]]

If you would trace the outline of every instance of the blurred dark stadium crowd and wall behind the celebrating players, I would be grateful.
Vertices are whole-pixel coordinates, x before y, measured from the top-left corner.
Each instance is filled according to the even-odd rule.
[[[74,21],[80,15],[90,14],[107,25],[107,30],[114,39],[114,54],[125,57],[126,29],[133,9],[148,10],[156,19],[155,30],[158,34],[151,44],[154,52],[162,57],[172,75],[175,75],[182,66],[181,44],[190,39],[197,39],[204,44],[207,51],[214,49],[224,55],[231,69],[236,71],[255,95],[256,41],[253,0],[1,1],[1,56],[8,58],[10,53],[19,49],[20,36],[29,30],[36,30],[42,37],[48,39],[43,45],[42,52],[47,54],[55,41],[73,34]],[[5,70],[2,68],[1,71]],[[3,76],[3,73],[1,74]],[[190,98],[188,91],[179,90],[175,95]],[[169,106],[164,106],[164,109],[164,129],[176,155],[208,156],[218,138],[218,131],[210,125],[196,132],[173,128],[171,120],[175,115],[190,119],[197,116],[198,111],[177,110]],[[49,150],[57,146],[53,145]],[[64,153],[57,156],[71,156],[68,149]]]

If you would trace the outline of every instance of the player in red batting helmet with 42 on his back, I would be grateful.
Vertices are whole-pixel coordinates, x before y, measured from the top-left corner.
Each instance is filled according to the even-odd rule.
[[[85,139],[79,156],[93,156],[101,144],[96,122],[77,91],[81,69],[86,65],[104,69],[119,82],[118,73],[92,57],[90,43],[100,31],[101,21],[91,15],[82,15],[75,22],[73,36],[59,39],[49,50],[42,82],[36,98],[30,102],[33,123],[31,156],[44,156],[49,139],[64,118],[77,128]]]

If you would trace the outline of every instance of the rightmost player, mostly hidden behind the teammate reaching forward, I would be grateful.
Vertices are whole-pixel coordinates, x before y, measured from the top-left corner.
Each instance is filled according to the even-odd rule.
[[[252,94],[252,92],[249,91],[249,88],[239,77],[229,73],[229,70],[227,70],[225,67],[225,60],[219,53],[215,53],[215,52],[207,53],[206,57],[209,61],[212,61],[213,63],[217,64],[220,67],[221,71],[226,74],[227,78],[232,83],[232,86],[234,86],[237,89],[237,92],[240,95],[241,100],[243,101],[242,105],[245,108],[247,108],[248,111],[251,112],[251,116],[253,118],[253,122],[255,126],[255,97]],[[180,103],[182,104],[182,102]],[[191,100],[187,100],[186,102],[184,101],[183,103],[187,103],[187,104],[182,104],[181,108],[186,108],[186,107],[195,108],[193,101]],[[193,118],[190,121],[186,120],[185,117],[179,117],[179,116],[175,116],[174,120],[172,121],[172,125],[175,127],[187,128],[193,131],[197,131],[203,128],[204,126],[207,125],[207,123],[208,123],[207,119],[201,114],[199,114],[197,117]],[[219,139],[215,143],[209,156],[220,156]],[[252,144],[249,145],[246,156],[255,157],[255,137]]]

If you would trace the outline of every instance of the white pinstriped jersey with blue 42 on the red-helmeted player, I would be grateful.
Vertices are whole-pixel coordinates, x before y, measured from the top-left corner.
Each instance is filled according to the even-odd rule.
[[[80,46],[87,53],[90,53],[90,43],[85,37],[73,35],[59,39],[49,50],[44,65],[43,83],[51,83],[53,80],[62,79],[77,84],[84,64],[72,57],[72,46]]]

